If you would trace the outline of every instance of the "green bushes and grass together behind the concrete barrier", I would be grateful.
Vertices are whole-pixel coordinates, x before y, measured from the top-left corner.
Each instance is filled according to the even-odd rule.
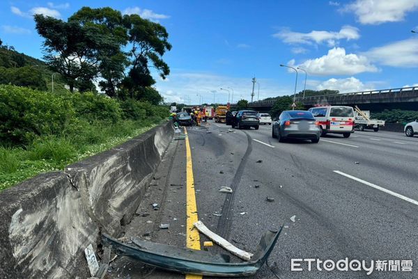
[[[168,114],[134,99],[1,85],[0,191],[123,143]]]

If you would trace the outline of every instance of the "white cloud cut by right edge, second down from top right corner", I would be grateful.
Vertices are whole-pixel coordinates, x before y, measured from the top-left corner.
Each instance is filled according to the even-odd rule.
[[[373,47],[364,53],[371,61],[393,67],[418,67],[418,38]]]

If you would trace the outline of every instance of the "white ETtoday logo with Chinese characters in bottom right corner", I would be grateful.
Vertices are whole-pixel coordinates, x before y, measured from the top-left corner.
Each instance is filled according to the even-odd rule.
[[[320,259],[291,259],[291,271],[366,271],[371,275],[373,271],[412,271],[412,260],[320,260]]]

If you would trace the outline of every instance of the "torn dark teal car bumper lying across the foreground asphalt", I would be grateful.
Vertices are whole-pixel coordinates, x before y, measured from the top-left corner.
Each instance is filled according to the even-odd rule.
[[[277,231],[265,232],[249,262],[230,262],[229,255],[157,244],[140,239],[133,239],[133,244],[123,244],[107,234],[102,234],[102,244],[111,245],[119,255],[132,257],[144,264],[168,271],[203,276],[240,277],[253,276],[263,266],[280,232],[281,228]]]

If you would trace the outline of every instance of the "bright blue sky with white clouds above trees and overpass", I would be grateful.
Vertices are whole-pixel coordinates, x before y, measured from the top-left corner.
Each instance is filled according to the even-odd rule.
[[[67,19],[82,6],[111,6],[160,22],[173,49],[160,93],[169,102],[260,99],[293,94],[295,72],[307,89],[341,92],[418,86],[418,0],[350,1],[7,1],[0,3],[0,38],[42,58],[33,13]],[[231,89],[232,88],[232,89]],[[297,91],[304,88],[300,72]],[[232,100],[232,96],[230,96]]]

